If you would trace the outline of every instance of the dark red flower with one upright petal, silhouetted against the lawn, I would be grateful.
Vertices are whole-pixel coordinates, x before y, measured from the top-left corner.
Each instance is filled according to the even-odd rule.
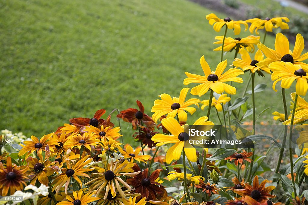
[[[142,103],[136,100],[139,110],[135,108],[128,108],[126,110],[122,110],[117,117],[122,118],[125,122],[132,123],[133,129],[137,129],[137,125],[142,126],[145,124],[148,129],[154,130],[156,123],[152,120],[152,117],[148,116],[144,113],[144,107]]]

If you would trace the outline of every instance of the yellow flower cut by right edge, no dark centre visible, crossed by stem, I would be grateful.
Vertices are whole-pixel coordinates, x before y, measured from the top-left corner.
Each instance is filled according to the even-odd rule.
[[[295,93],[291,93],[291,99],[294,101]],[[299,124],[308,120],[308,103],[300,96],[297,98],[296,107],[293,124]],[[291,119],[284,121],[282,124],[290,125]]]

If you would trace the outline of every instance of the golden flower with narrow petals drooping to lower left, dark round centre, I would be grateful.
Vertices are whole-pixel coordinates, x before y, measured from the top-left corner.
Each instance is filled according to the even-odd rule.
[[[76,182],[79,183],[80,187],[82,187],[82,182],[78,176],[90,178],[90,176],[84,172],[94,170],[94,168],[83,168],[92,161],[92,158],[89,157],[90,155],[87,155],[73,165],[71,165],[71,163],[67,160],[67,168],[62,168],[62,173],[59,174],[51,183],[51,185],[54,185],[52,187],[52,191],[56,190],[56,193],[58,193],[61,187],[65,184],[64,192],[67,193],[67,188],[70,184],[71,178],[74,178]]]

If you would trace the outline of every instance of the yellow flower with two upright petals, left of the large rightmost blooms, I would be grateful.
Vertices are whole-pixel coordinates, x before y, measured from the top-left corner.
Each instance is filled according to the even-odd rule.
[[[242,59],[235,58],[233,61],[234,66],[240,67],[241,69],[243,69],[244,72],[250,70],[251,73],[257,72],[258,74],[264,76],[263,73],[260,72],[260,68],[256,65],[264,58],[264,55],[261,50],[257,50],[253,60],[249,56],[249,53],[243,48],[241,48],[238,53],[241,54]],[[261,70],[264,70],[266,73],[270,74],[270,69],[268,68],[263,67],[261,68]]]

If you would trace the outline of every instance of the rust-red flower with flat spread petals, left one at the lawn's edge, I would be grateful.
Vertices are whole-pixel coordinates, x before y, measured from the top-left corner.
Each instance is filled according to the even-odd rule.
[[[98,127],[99,125],[107,125],[113,128],[114,124],[110,122],[111,115],[109,115],[106,120],[101,119],[101,116],[105,114],[105,112],[105,109],[100,109],[95,112],[91,119],[86,117],[71,118],[70,123],[80,128],[83,126],[89,126],[90,124],[94,127]]]

